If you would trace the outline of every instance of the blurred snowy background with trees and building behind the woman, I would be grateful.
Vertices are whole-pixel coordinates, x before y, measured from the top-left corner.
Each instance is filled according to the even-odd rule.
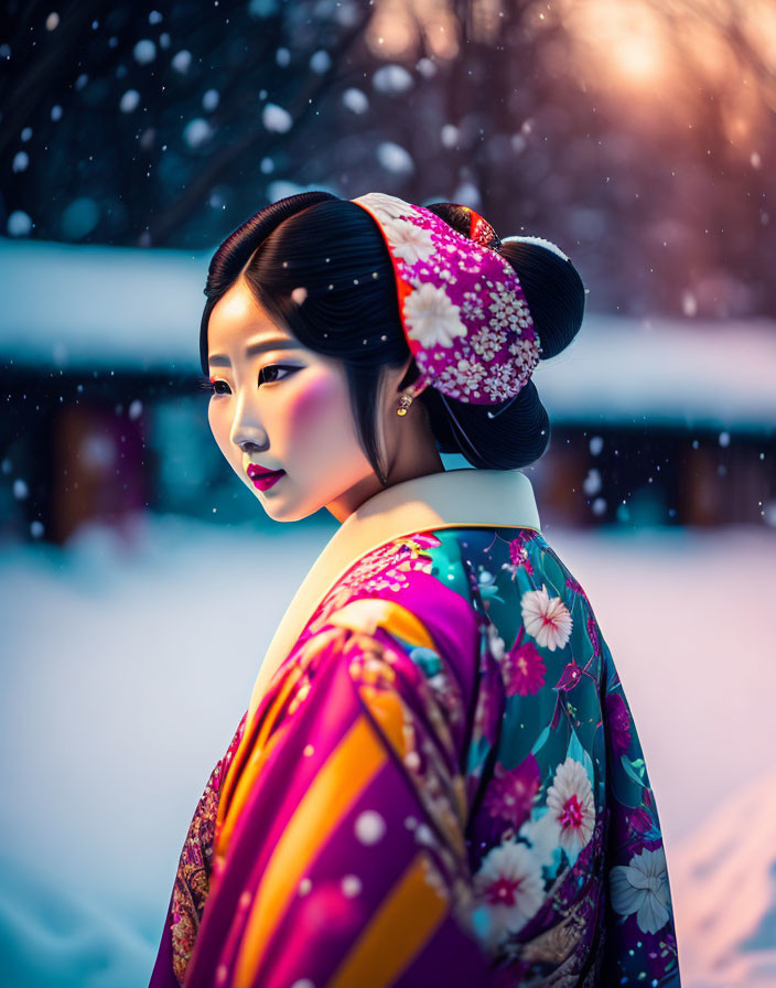
[[[634,709],[683,981],[776,985],[774,3],[6,10],[4,982],[147,982],[191,814],[336,526],[261,513],[196,385],[214,249],[322,189],[461,202],[580,271],[526,473]]]

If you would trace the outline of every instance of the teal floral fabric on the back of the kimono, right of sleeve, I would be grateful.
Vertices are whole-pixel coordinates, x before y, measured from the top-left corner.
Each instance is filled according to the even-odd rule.
[[[584,590],[536,530],[433,537],[481,631],[466,841],[496,984],[678,986],[655,797]]]

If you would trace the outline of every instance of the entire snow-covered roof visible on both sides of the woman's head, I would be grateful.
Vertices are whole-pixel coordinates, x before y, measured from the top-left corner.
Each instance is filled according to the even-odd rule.
[[[0,238],[0,359],[63,369],[198,372],[212,251]],[[552,421],[776,423],[776,322],[588,313],[537,367]]]

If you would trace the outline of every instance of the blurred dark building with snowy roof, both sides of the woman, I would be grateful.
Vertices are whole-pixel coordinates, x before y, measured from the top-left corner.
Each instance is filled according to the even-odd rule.
[[[209,251],[0,239],[0,523],[63,544],[137,512],[274,525],[207,427]],[[776,324],[589,313],[535,373],[542,523],[776,524]],[[465,465],[449,458],[449,465]]]

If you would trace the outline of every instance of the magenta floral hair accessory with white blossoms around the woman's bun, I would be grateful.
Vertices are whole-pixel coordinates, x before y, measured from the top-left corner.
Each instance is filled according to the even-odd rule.
[[[516,398],[541,345],[520,281],[495,249],[493,227],[470,210],[470,239],[431,210],[392,195],[370,192],[352,202],[377,221],[391,257],[405,335],[420,370],[414,393],[431,385],[473,405]]]

